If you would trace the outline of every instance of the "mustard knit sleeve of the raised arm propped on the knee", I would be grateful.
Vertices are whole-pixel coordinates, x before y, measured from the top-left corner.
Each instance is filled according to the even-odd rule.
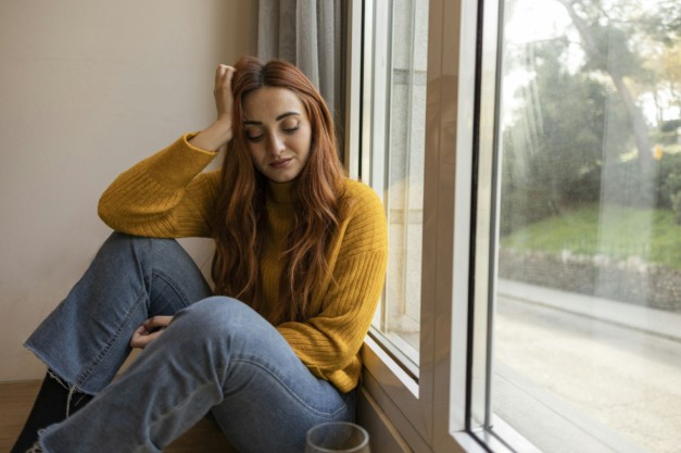
[[[215,158],[189,143],[186,134],[118,176],[99,201],[113,229],[135,236],[210,236],[218,172],[203,168]]]

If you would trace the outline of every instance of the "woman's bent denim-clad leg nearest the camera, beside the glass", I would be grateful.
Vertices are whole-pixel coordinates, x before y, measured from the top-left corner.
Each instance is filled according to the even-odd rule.
[[[179,312],[121,377],[40,436],[48,453],[161,452],[212,410],[240,452],[301,452],[318,423],[354,418],[354,393],[317,379],[262,316],[215,297]]]

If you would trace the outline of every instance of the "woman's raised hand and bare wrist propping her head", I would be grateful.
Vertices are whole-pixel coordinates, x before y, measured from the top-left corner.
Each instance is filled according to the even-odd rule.
[[[235,68],[226,64],[219,64],[215,70],[215,88],[213,97],[215,98],[215,109],[217,110],[217,118],[215,123],[203,129],[189,142],[202,150],[217,150],[227,144],[232,137],[232,109],[234,95],[231,92],[231,78]]]

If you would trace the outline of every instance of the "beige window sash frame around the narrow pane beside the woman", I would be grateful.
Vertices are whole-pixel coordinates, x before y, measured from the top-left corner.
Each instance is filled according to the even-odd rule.
[[[375,108],[368,95],[373,78],[367,78],[367,73],[374,71],[374,30],[365,35],[367,23],[373,24],[374,4],[371,0],[349,4],[352,25],[348,71],[354,78],[348,84],[348,117],[354,123],[348,124],[354,140],[348,140],[346,162],[351,177],[364,180],[370,180],[376,169],[371,168],[373,138],[368,136]],[[477,1],[430,0],[421,256],[431,259],[421,257],[418,380],[387,352],[380,339],[369,337],[363,348],[364,387],[415,451],[487,451],[471,436],[476,427],[468,421],[472,335],[469,290],[475,255],[470,238],[476,181],[471,175],[476,167],[477,125],[458,121],[476,117],[478,109],[478,53],[459,51],[478,49],[478,13]],[[356,21],[363,25],[357,26]],[[360,71],[360,77],[357,66],[364,71]],[[383,193],[379,196],[382,199]]]

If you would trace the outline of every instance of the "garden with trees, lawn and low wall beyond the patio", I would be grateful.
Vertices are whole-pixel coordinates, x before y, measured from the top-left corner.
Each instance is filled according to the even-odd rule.
[[[504,49],[499,275],[681,312],[681,3],[557,3]]]

